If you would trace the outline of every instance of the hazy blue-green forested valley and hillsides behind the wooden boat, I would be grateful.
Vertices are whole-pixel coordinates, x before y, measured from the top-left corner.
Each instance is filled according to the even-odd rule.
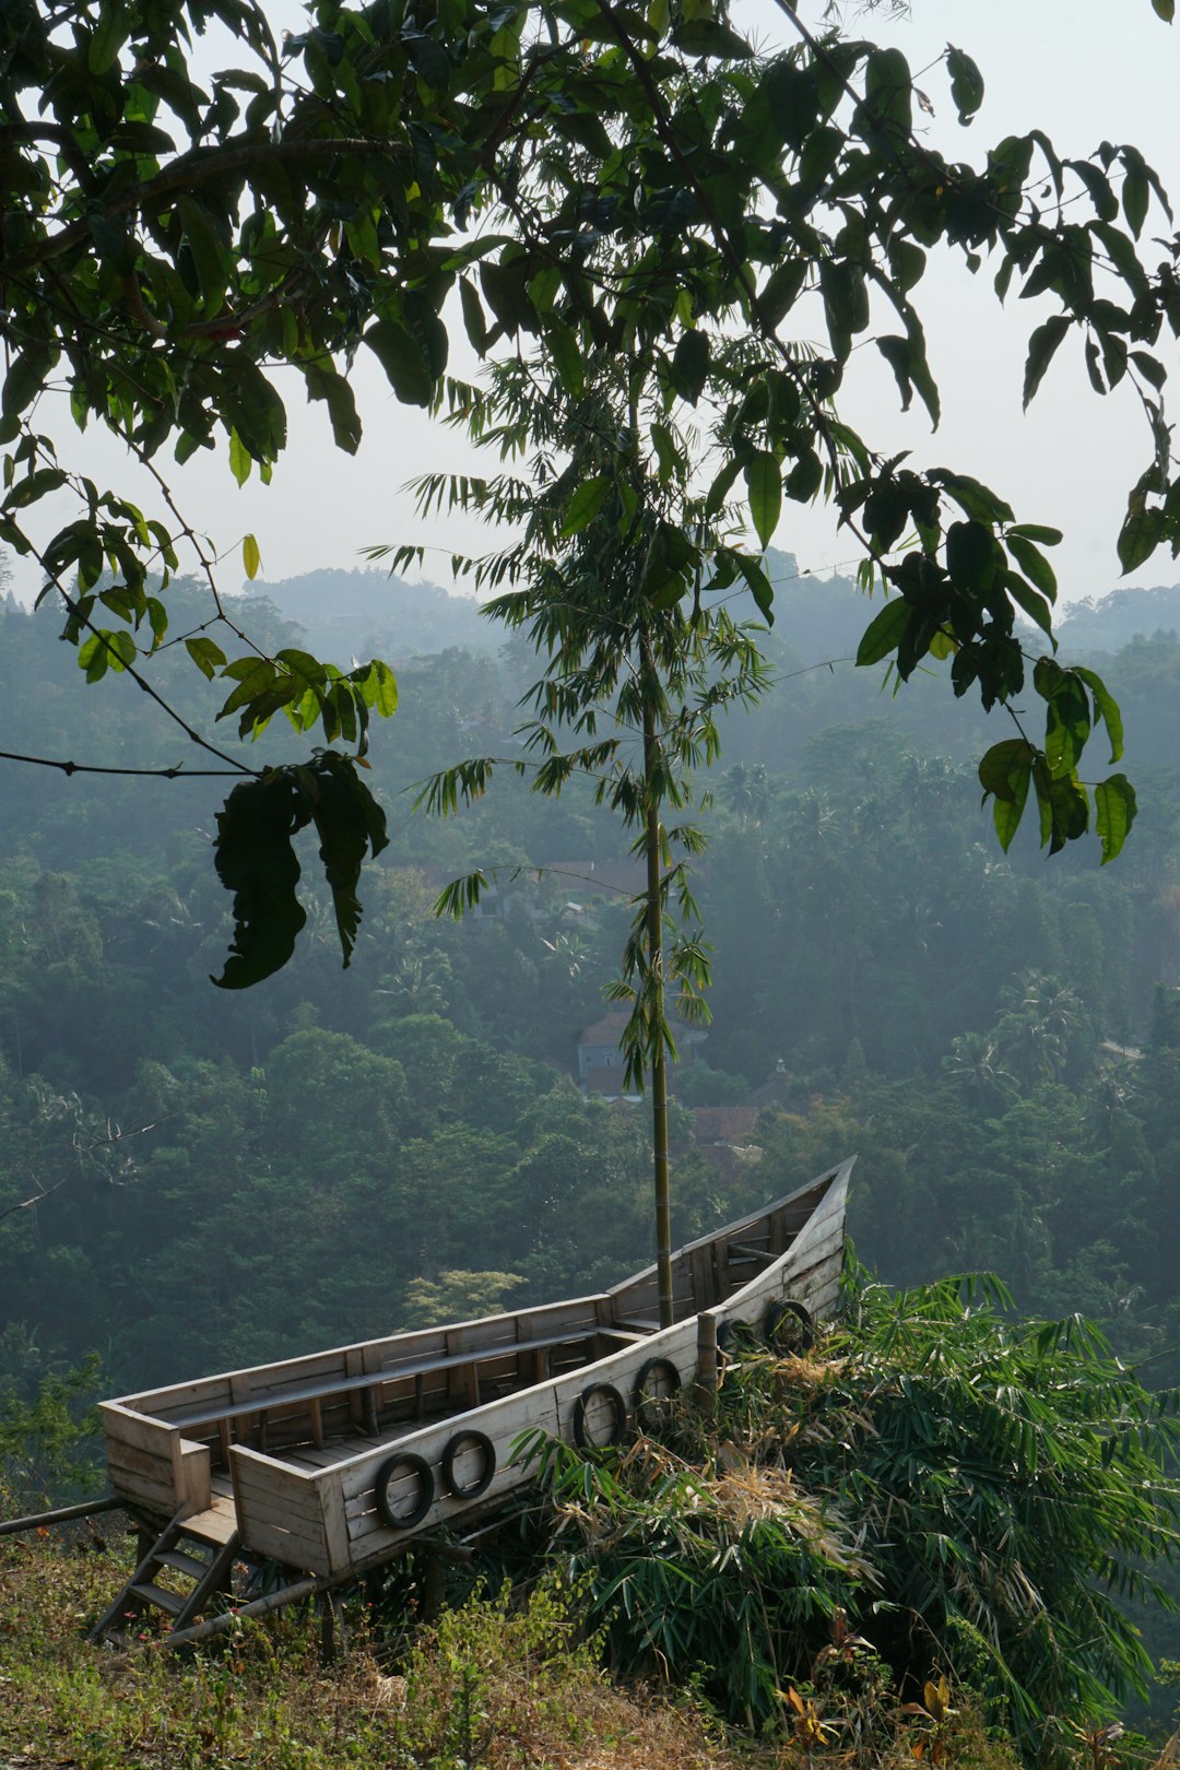
[[[1077,612],[1079,637],[1090,616],[1123,639],[1102,667],[1127,715],[1134,841],[1102,871],[1097,851],[1046,864],[1031,841],[1003,857],[964,759],[982,715],[936,680],[883,692],[847,662],[853,586],[789,556],[771,570],[775,685],[701,782],[715,988],[676,1073],[678,1232],[856,1149],[853,1235],[881,1276],[991,1267],[1028,1310],[1083,1310],[1171,1379],[1180,643]],[[292,602],[317,589],[338,611],[341,655],[375,641],[402,658],[373,756],[393,841],[349,972],[311,892],[295,963],[244,997],[211,988],[221,782],[9,765],[0,1386],[97,1351],[117,1393],[647,1258],[644,1113],[579,1089],[628,917],[617,827],[589,784],[554,804],[527,779],[460,820],[414,812],[433,768],[513,754],[531,658],[441,591],[320,579]],[[285,591],[251,621],[278,627]],[[1145,632],[1153,596],[1129,604]],[[425,646],[481,644],[398,646],[407,609]],[[50,620],[14,604],[0,620],[5,749],[35,731],[57,759],[175,759],[131,683],[83,692]],[[439,889],[476,864],[495,885],[483,915],[439,920]]]

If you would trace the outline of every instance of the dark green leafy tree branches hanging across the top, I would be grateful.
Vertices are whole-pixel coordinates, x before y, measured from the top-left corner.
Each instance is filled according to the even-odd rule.
[[[1054,596],[1051,531],[1017,522],[957,469],[883,458],[835,404],[854,340],[874,336],[902,404],[916,393],[938,419],[913,301],[934,248],[971,273],[987,262],[1000,296],[1019,283],[1054,297],[1030,338],[1026,402],[1067,342],[1099,391],[1134,389],[1150,458],[1120,556],[1130,570],[1161,545],[1175,554],[1180,481],[1159,343],[1180,329],[1180,281],[1175,239],[1162,258],[1159,244],[1138,244],[1152,202],[1169,219],[1143,158],[1111,143],[1060,158],[1031,131],[975,166],[950,163],[913,133],[899,50],[839,30],[817,37],[780,4],[794,46],[773,57],[709,0],[676,11],[655,0],[646,14],[609,0],[326,0],[283,44],[251,0],[11,7],[0,23],[0,542],[44,568],[87,676],[126,671],[157,694],[152,660],[184,641],[223,690],[218,717],[237,717],[242,733],[283,712],[299,733],[363,752],[368,715],[395,706],[387,669],[341,673],[301,651],[226,655],[225,632],[212,637],[232,625],[212,559],[157,462],[165,450],[184,462],[219,446],[239,480],[253,466],[269,474],[287,435],[280,365],[303,375],[336,441],[356,450],[356,352],[375,354],[402,400],[430,405],[455,289],[476,349],[540,347],[573,398],[587,361],[639,342],[669,407],[697,411],[695,466],[708,467],[711,499],[720,508],[736,489],[762,542],[784,497],[835,501],[863,547],[865,581],[893,593],[862,660],[892,658],[900,676],[946,657],[955,692],[1012,704],[1031,662],[1017,611],[1049,635]],[[1173,0],[1153,7],[1171,19]],[[189,53],[207,27],[228,32],[239,65],[202,83]],[[969,122],[978,69],[952,50],[946,73]],[[78,425],[126,439],[156,474],[157,513],[73,471],[39,409],[48,388],[67,393]],[[78,515],[44,533],[42,499],[64,489]],[[170,634],[166,582],[184,545],[207,572],[211,616]],[[249,538],[244,565],[257,570]],[[670,600],[679,584],[688,596],[704,565],[692,536],[669,538],[658,595]],[[1046,703],[1044,740],[1021,726],[980,768],[1000,837],[1012,839],[1031,791],[1051,848],[1081,835],[1093,811],[1109,858],[1134,795],[1118,773],[1090,789],[1079,763],[1095,720],[1118,759],[1116,708],[1097,676],[1063,669],[1049,650],[1031,687]],[[219,834],[237,910],[223,982],[253,982],[290,952],[290,841],[311,818],[347,830],[324,841],[347,958],[359,860],[382,830],[345,772],[343,758],[313,758],[239,789],[249,796]],[[326,796],[331,812],[318,816]]]

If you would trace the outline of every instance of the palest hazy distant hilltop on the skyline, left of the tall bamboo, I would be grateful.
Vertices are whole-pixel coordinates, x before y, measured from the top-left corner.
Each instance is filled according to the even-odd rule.
[[[304,572],[276,584],[257,582],[283,620],[303,628],[308,650],[333,664],[377,653],[402,664],[423,653],[490,651],[502,635],[479,616],[474,596],[451,596],[437,584],[407,584],[379,566]]]

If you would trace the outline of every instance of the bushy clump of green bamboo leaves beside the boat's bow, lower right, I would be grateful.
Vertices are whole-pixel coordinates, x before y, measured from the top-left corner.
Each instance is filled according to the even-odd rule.
[[[1030,1758],[1141,1692],[1120,1605],[1168,1604],[1150,1568],[1178,1540],[1176,1397],[1090,1322],[1008,1310],[994,1280],[860,1283],[819,1349],[736,1349],[716,1414],[663,1444],[538,1441],[550,1547],[589,1579],[614,1667],[695,1676],[732,1719],[814,1722],[816,1743],[817,1690],[916,1699],[948,1676]]]

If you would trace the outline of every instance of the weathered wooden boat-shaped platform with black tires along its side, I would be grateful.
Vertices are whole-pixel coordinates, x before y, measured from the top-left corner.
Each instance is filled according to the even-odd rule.
[[[727,1324],[759,1328],[784,1301],[830,1313],[851,1166],[683,1248],[672,1328],[658,1328],[647,1267],[566,1303],[104,1402],[111,1487],[145,1529],[172,1533],[156,1561],[195,1565],[191,1545],[209,1545],[211,1589],[234,1552],[333,1582],[361,1574],[502,1506],[527,1480],[520,1434],[612,1443],[697,1379],[699,1342]],[[149,1561],[140,1589],[154,1589]]]

